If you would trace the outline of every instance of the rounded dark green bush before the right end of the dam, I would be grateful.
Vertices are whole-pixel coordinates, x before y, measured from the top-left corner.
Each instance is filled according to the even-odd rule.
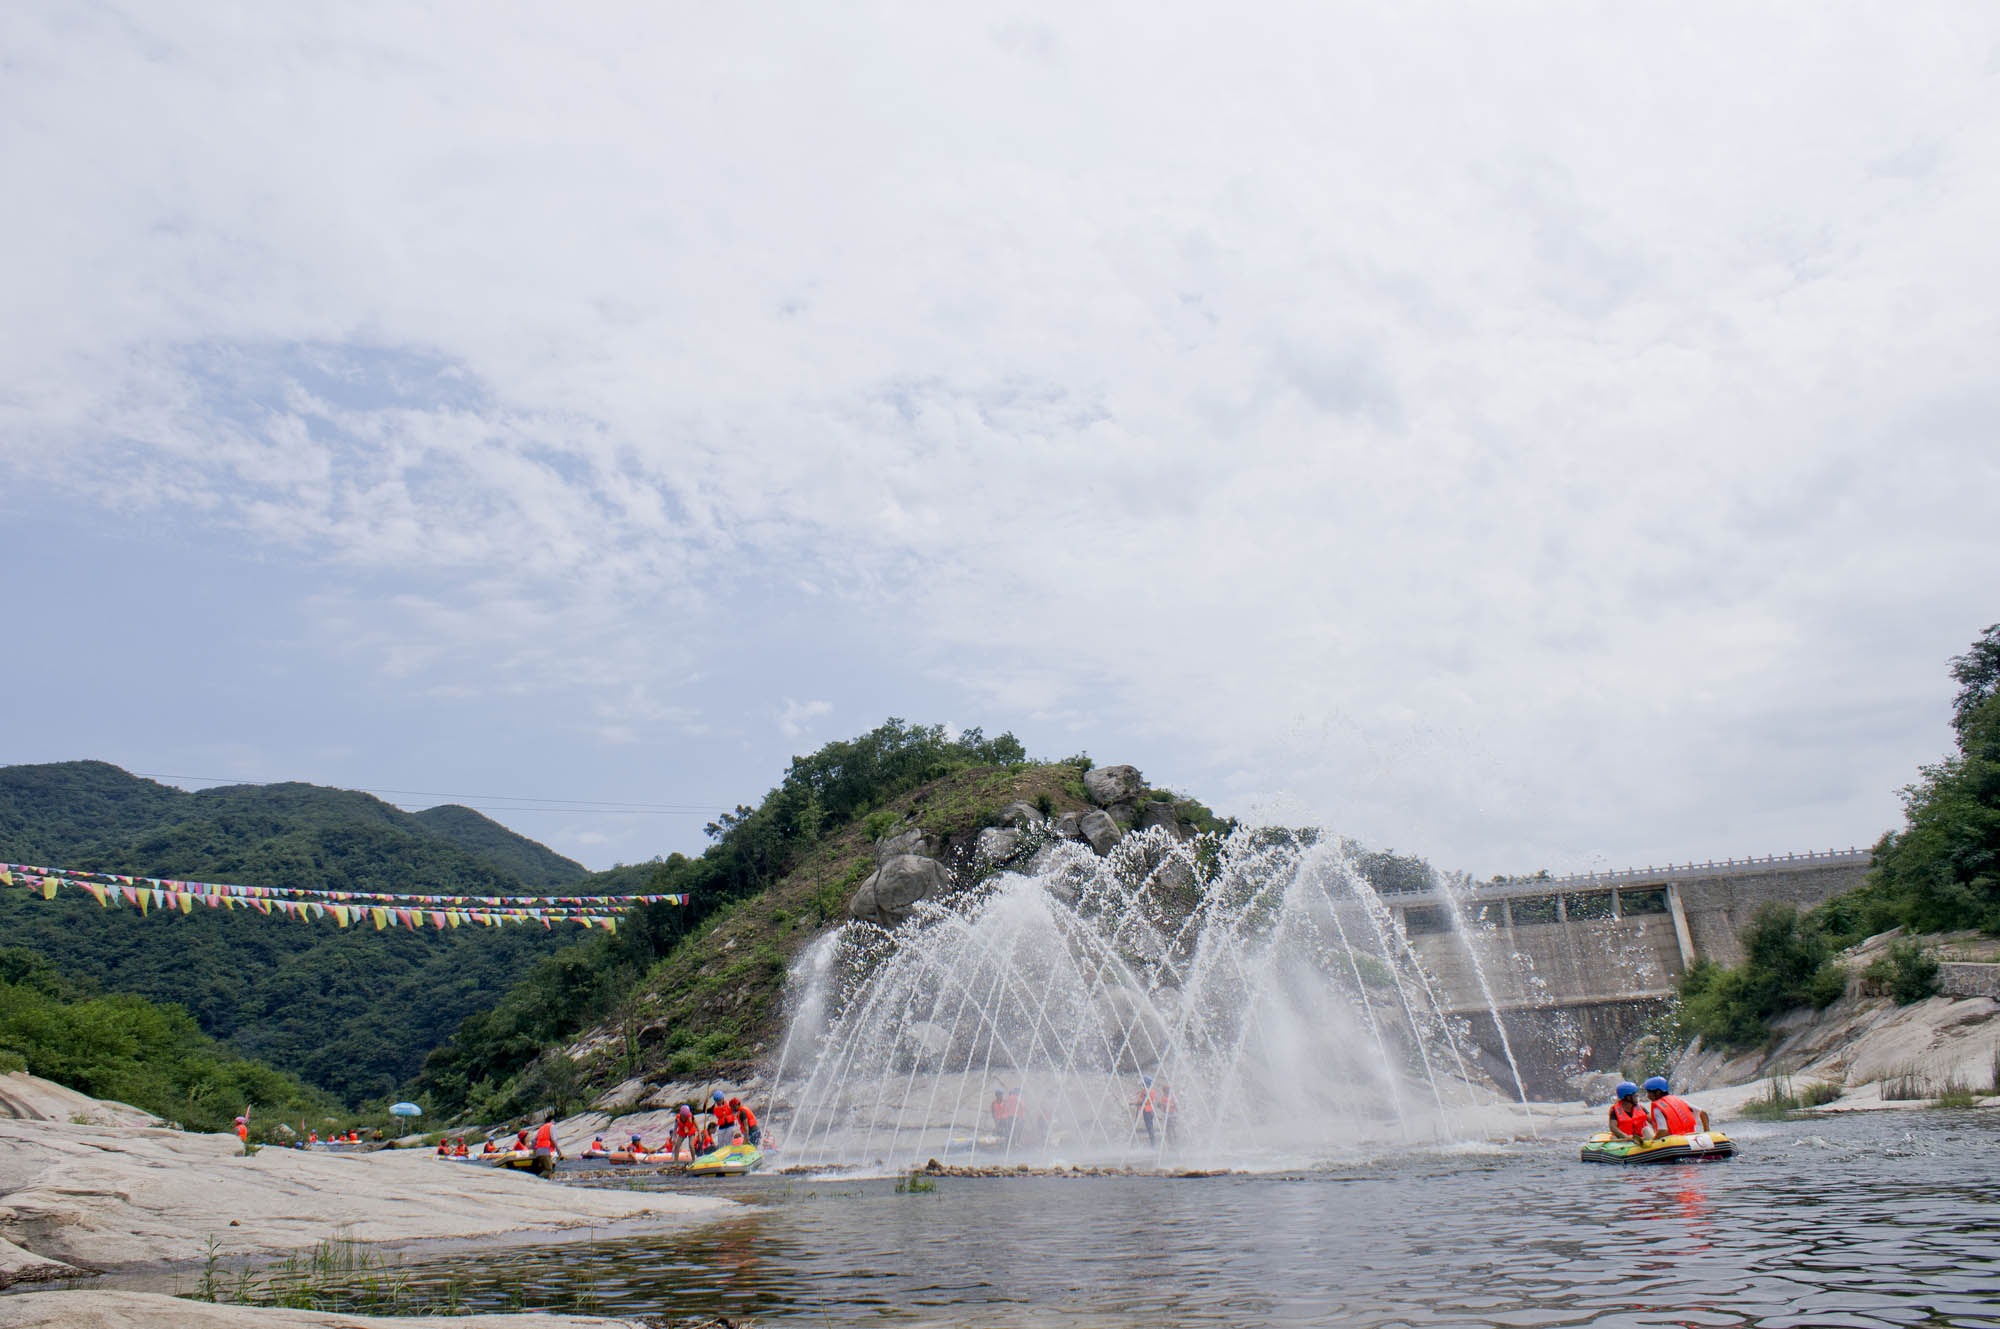
[[[1718,969],[1696,963],[1680,977],[1680,1015],[1688,1033],[1724,1047],[1770,1037],[1770,1019],[1800,1007],[1824,1009],[1846,991],[1834,949],[1810,917],[1792,905],[1764,905],[1744,931],[1744,963]]]

